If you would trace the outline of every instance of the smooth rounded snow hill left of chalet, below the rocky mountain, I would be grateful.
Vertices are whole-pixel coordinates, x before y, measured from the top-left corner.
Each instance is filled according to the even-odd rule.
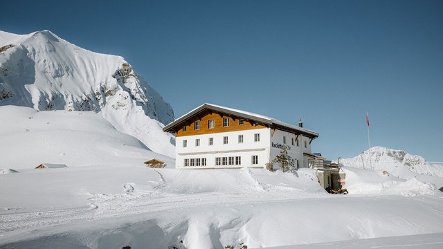
[[[150,151],[92,111],[37,111],[6,106],[0,107],[0,116],[0,168],[3,169],[20,172],[41,163],[68,167],[143,165],[152,157],[174,164],[172,158]]]

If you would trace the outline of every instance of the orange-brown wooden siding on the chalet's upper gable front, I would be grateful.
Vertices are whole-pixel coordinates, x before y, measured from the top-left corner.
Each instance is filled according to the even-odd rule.
[[[229,126],[223,127],[223,118],[229,118]],[[201,134],[210,134],[210,133],[220,133],[220,132],[228,132],[228,131],[245,131],[249,129],[262,129],[266,128],[264,125],[258,124],[255,126],[255,122],[251,124],[249,120],[244,119],[244,124],[239,125],[240,118],[232,118],[228,116],[221,116],[218,113],[207,113],[204,116],[192,117],[188,120],[188,125],[186,125],[186,131],[183,131],[183,126],[179,127],[179,131],[175,134],[175,136],[192,136],[192,135],[201,135]],[[214,120],[214,128],[209,129],[209,120]],[[200,129],[194,129],[195,121],[200,121]],[[184,125],[184,124],[183,124]]]

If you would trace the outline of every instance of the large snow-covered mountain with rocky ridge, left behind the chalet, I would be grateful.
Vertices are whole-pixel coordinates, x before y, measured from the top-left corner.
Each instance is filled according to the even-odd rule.
[[[152,151],[174,154],[162,131],[174,120],[170,104],[132,66],[115,55],[93,53],[51,31],[0,31],[0,106],[94,111]]]

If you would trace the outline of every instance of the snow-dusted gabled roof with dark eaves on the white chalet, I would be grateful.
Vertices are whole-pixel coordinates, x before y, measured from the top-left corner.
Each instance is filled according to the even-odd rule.
[[[189,111],[188,113],[184,114],[180,118],[177,118],[176,120],[174,120],[174,122],[171,122],[170,124],[166,125],[163,128],[163,131],[170,130],[175,125],[177,125],[180,122],[183,122],[184,120],[186,120],[189,116],[192,116],[192,114],[198,113],[199,111],[204,110],[204,109],[213,109],[213,110],[225,111],[225,112],[228,112],[228,113],[233,113],[233,114],[235,114],[237,116],[240,116],[240,117],[246,117],[246,118],[250,118],[252,120],[257,120],[257,121],[260,121],[260,122],[264,122],[265,124],[274,124],[274,125],[278,125],[278,126],[281,126],[281,127],[287,127],[289,129],[297,130],[297,131],[300,131],[302,133],[307,133],[307,134],[309,134],[311,136],[318,137],[318,133],[317,132],[311,131],[309,129],[305,129],[305,128],[302,128],[302,127],[298,127],[298,125],[288,124],[286,122],[282,122],[280,120],[276,120],[275,118],[270,118],[268,116],[264,116],[264,115],[261,115],[261,114],[251,113],[249,111],[242,111],[242,110],[239,110],[239,109],[233,109],[233,108],[230,108],[230,107],[222,107],[222,106],[219,106],[217,104],[210,104],[210,103],[205,103],[205,104],[202,104],[199,107],[196,107],[195,109],[192,109],[191,111]]]

